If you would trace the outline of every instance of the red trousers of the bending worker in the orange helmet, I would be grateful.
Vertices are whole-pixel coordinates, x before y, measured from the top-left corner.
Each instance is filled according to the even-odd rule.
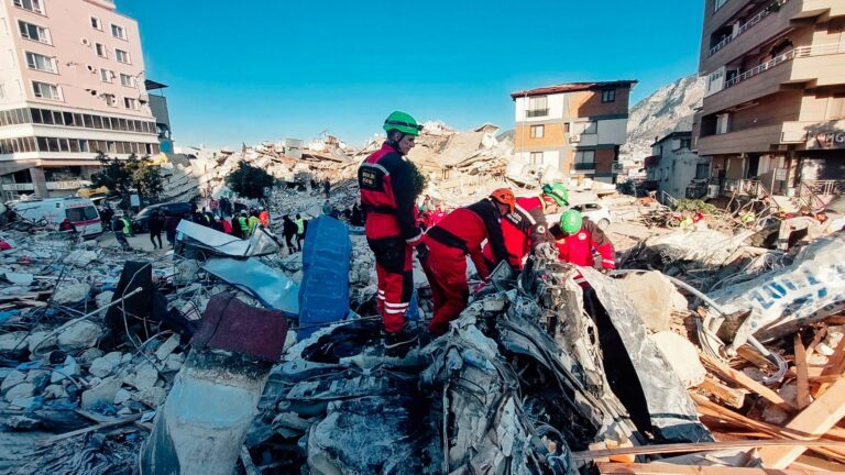
[[[463,250],[441,244],[429,236],[424,239],[430,252],[422,268],[435,300],[435,317],[428,324],[428,331],[439,336],[449,330],[449,322],[467,308],[470,298],[467,255]]]

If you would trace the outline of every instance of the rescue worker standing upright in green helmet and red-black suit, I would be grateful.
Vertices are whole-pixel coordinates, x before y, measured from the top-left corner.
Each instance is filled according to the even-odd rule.
[[[417,339],[416,332],[405,328],[405,312],[414,289],[413,250],[422,242],[422,234],[417,225],[414,170],[405,156],[421,129],[409,114],[393,112],[384,121],[387,140],[358,169],[366,212],[364,231],[375,254],[378,311],[388,350]]]

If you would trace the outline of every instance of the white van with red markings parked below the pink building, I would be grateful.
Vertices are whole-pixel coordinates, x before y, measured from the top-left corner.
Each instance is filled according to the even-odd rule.
[[[26,199],[12,202],[11,208],[26,221],[46,221],[47,225],[57,229],[67,218],[84,236],[102,234],[100,213],[88,198]]]

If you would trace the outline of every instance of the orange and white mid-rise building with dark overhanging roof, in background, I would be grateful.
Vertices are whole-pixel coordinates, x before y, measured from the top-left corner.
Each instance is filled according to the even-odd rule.
[[[573,82],[513,92],[514,154],[571,178],[615,183],[636,80]]]

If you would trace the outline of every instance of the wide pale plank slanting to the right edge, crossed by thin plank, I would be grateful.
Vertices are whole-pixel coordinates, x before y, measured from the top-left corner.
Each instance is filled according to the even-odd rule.
[[[845,340],[845,339],[843,339]],[[802,439],[819,439],[845,417],[845,378],[841,378],[814,400],[801,413],[794,417],[784,430],[801,433]],[[760,450],[764,466],[786,468],[804,453],[804,448]]]

